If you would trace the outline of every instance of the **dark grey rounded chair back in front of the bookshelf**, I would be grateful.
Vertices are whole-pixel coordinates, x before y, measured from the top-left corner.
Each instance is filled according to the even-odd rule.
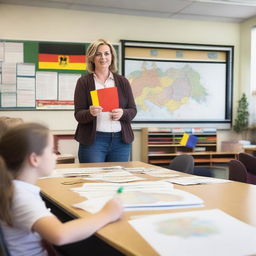
[[[169,169],[193,174],[194,158],[191,155],[178,155],[169,164]]]

